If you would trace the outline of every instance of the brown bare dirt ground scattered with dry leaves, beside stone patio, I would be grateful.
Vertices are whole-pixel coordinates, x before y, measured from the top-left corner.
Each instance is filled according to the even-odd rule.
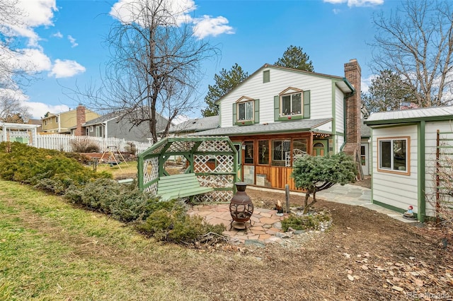
[[[278,199],[285,203],[285,194],[256,189],[247,194],[260,206],[272,207]],[[291,206],[302,204],[302,196],[290,199]],[[212,291],[218,296],[213,300],[224,300],[225,288],[241,290],[242,300],[453,298],[452,232],[401,223],[360,206],[321,200],[316,208],[331,212],[328,232],[312,233],[290,247],[224,247],[251,256],[252,263],[218,270],[214,278],[193,271],[196,277],[187,281]],[[442,239],[447,239],[446,248]]]

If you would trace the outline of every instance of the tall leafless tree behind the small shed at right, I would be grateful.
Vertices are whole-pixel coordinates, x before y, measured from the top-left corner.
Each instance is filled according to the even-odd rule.
[[[449,0],[405,0],[390,16],[373,18],[374,71],[410,83],[419,107],[448,105],[453,88],[453,8]],[[451,96],[451,95],[450,95]]]

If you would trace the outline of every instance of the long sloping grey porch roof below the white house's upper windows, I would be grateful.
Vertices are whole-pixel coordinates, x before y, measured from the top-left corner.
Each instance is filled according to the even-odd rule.
[[[302,119],[292,122],[274,122],[270,124],[253,124],[248,126],[230,126],[208,131],[200,131],[196,136],[245,136],[251,134],[278,134],[298,131],[311,131],[318,126],[331,122],[332,118]],[[189,135],[192,136],[192,135]]]

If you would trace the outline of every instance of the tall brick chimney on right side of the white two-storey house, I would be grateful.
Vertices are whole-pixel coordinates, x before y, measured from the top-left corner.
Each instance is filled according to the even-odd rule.
[[[362,70],[360,69],[357,59],[351,59],[345,64],[345,78],[355,88],[355,93],[346,98],[346,144],[343,151],[348,155],[357,158],[360,155],[360,109],[362,100],[360,98],[360,81]]]

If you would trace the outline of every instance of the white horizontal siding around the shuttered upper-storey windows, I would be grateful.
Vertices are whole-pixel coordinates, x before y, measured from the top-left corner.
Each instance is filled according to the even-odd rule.
[[[331,118],[332,116],[332,81],[328,78],[311,76],[279,69],[263,69],[270,71],[270,82],[263,83],[263,73],[255,76],[232,90],[220,103],[222,120],[221,127],[233,126],[232,104],[246,96],[260,100],[260,123],[274,122],[274,96],[288,87],[310,90],[311,119]]]

